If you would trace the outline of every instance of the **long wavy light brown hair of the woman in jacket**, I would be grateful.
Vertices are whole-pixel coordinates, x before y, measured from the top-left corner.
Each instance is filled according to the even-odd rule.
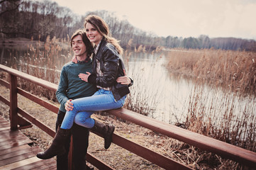
[[[120,55],[123,54],[123,48],[121,47],[121,45],[119,45],[118,40],[116,40],[116,38],[113,38],[109,34],[108,24],[101,17],[95,16],[95,15],[89,15],[84,20],[84,28],[87,25],[87,23],[91,23],[91,25],[93,25],[98,30],[98,32],[104,38],[106,38],[107,42],[110,42],[111,44],[113,44],[113,46],[116,47],[116,50]]]

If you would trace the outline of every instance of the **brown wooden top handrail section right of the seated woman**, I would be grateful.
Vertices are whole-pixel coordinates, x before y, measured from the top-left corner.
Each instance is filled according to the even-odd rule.
[[[118,108],[107,112],[111,115],[116,115],[118,118],[128,120],[131,123],[135,123],[155,132],[160,132],[163,135],[167,135],[168,137],[172,137],[189,145],[219,154],[228,159],[233,159],[247,166],[256,167],[256,152],[230,145],[226,142],[215,140],[211,137],[179,128],[175,125],[163,123],[162,121],[140,115],[125,108]]]

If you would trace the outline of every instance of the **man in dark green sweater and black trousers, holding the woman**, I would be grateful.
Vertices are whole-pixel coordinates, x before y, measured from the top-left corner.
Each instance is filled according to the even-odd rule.
[[[91,52],[93,47],[88,40],[84,30],[77,30],[71,38],[71,47],[76,56],[77,62],[68,62],[62,67],[60,74],[60,84],[56,91],[56,97],[60,108],[57,115],[56,131],[65,117],[66,111],[71,111],[73,106],[71,101],[76,98],[91,96],[96,91],[94,84],[89,84],[79,78],[80,73],[91,72]],[[132,80],[128,77],[119,77],[117,81],[121,84],[130,84]],[[82,135],[81,135],[82,134]],[[89,130],[82,126],[74,124],[72,126],[73,137],[73,164],[76,170],[89,169],[85,164],[85,156],[89,143]],[[57,156],[57,169],[67,169],[67,160],[69,152],[69,140],[65,143],[65,154]]]

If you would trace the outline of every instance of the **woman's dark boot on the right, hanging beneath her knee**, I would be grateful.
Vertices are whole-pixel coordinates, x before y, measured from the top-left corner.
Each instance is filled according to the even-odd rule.
[[[108,149],[112,143],[112,135],[115,130],[114,125],[106,125],[104,123],[99,122],[98,120],[94,120],[94,127],[91,130],[95,132],[99,132],[104,137],[104,147]]]

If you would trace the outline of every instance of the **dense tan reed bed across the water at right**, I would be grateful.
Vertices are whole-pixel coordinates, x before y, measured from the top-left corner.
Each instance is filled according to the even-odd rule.
[[[238,94],[256,94],[256,52],[174,49],[167,69]]]

